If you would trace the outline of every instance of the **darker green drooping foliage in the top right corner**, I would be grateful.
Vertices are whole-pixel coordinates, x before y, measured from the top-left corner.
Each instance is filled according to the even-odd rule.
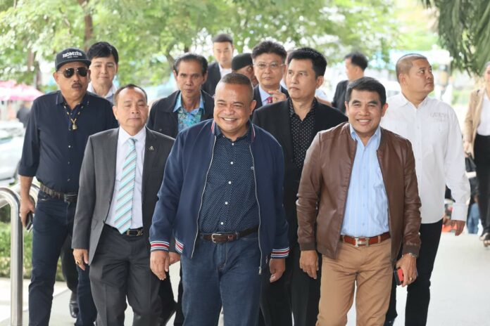
[[[490,60],[488,0],[422,0],[439,11],[441,44],[451,53],[453,67],[480,74]]]

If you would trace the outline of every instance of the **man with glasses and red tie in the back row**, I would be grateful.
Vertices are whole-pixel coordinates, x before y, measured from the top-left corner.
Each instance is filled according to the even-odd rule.
[[[284,46],[273,41],[262,41],[253,47],[253,71],[258,80],[258,85],[253,89],[256,110],[262,105],[289,97],[287,89],[281,86],[282,76],[286,72],[286,56]]]

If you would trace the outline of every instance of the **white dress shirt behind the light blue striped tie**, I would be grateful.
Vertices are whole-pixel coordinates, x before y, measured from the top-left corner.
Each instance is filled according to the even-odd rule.
[[[134,143],[136,148],[136,177],[134,178],[134,193],[133,193],[133,204],[132,204],[132,218],[130,228],[141,228],[143,226],[143,213],[142,213],[142,176],[143,176],[143,162],[144,162],[144,143],[146,141],[146,129],[143,128],[134,136],[130,136],[124,129],[119,128],[118,136],[118,149],[115,161],[115,183],[114,183],[114,193],[111,202],[111,208],[109,209],[109,215],[106,219],[106,224],[113,226],[115,228],[114,216],[116,198],[118,196],[118,190],[122,174],[122,164],[124,164],[124,159],[129,152],[129,139],[135,138],[137,141]]]

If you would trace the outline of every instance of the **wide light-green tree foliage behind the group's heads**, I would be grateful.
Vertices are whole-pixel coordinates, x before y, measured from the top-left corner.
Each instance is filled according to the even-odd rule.
[[[32,82],[62,48],[104,40],[120,52],[120,81],[155,83],[180,53],[211,54],[218,32],[232,34],[239,52],[270,38],[329,60],[352,48],[386,55],[396,42],[392,1],[0,0],[0,75]]]

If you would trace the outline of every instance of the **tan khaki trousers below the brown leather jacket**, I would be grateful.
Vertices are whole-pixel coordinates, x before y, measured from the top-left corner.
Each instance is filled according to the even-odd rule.
[[[317,326],[344,326],[356,292],[358,326],[382,326],[391,291],[391,239],[370,247],[339,242],[337,259],[322,256]]]

